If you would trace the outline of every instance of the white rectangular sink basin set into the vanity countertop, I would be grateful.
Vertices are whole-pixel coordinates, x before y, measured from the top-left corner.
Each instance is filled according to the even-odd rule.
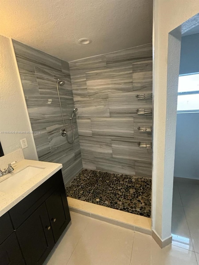
[[[0,179],[0,191],[9,193],[12,190],[15,190],[17,187],[21,186],[44,169],[45,167],[27,166],[17,173],[12,171],[7,174],[8,178],[2,181]]]

